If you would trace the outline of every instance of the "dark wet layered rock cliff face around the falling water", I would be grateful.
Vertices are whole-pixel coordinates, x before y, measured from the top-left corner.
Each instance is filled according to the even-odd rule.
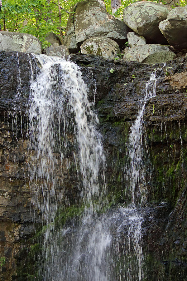
[[[147,101],[143,117],[148,191],[147,206],[142,206],[146,276],[147,280],[185,280],[187,58],[146,65],[78,53],[71,60],[82,67],[90,100],[94,99],[93,81],[96,84],[98,129],[107,155],[108,200],[114,204],[129,200],[123,172],[126,142],[146,82],[156,71],[156,96]],[[0,62],[0,257],[5,258],[0,280],[27,280],[23,268],[33,250],[29,238],[41,223],[31,199],[27,133],[31,65],[36,76],[40,64],[31,55],[4,51]],[[74,188],[76,176],[72,167],[62,175],[70,204],[79,193]],[[25,271],[32,274],[31,269]]]

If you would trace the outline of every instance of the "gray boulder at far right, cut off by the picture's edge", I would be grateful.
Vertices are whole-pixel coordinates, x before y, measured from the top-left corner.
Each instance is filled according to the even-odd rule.
[[[187,49],[187,6],[172,9],[167,19],[160,22],[159,29],[170,45]]]

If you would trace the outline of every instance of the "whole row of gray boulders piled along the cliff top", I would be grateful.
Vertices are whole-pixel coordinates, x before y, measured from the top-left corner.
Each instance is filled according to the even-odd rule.
[[[51,46],[44,53],[63,57],[81,52],[106,59],[123,56],[124,60],[137,62],[166,62],[174,59],[176,53],[185,55],[186,34],[187,6],[171,9],[138,1],[124,9],[122,22],[107,13],[98,1],[86,0],[72,7],[64,42],[54,33],[46,35]],[[30,34],[0,32],[0,50],[40,54],[41,46]]]

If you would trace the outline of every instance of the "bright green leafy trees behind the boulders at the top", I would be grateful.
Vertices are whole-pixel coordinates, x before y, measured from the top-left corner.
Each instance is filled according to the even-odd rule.
[[[83,1],[83,0],[79,0]],[[48,32],[54,32],[59,36],[59,30],[65,34],[65,27],[71,7],[77,0],[2,0],[0,23],[2,30],[12,32],[30,33],[38,37],[43,47],[49,46],[45,41]],[[107,11],[112,14],[111,0],[104,0]],[[117,10],[116,16],[122,18],[125,7],[136,2],[136,0],[122,0],[122,6]],[[159,1],[154,1],[159,2]],[[161,0],[163,4],[164,0]],[[61,10],[61,23],[59,21],[59,6]],[[184,6],[186,0],[180,0]]]

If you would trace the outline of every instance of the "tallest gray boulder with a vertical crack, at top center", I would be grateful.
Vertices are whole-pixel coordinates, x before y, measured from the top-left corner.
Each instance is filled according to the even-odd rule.
[[[127,41],[130,29],[107,13],[96,0],[86,0],[72,7],[66,27],[64,44],[74,52],[91,37],[108,37],[120,47]]]

